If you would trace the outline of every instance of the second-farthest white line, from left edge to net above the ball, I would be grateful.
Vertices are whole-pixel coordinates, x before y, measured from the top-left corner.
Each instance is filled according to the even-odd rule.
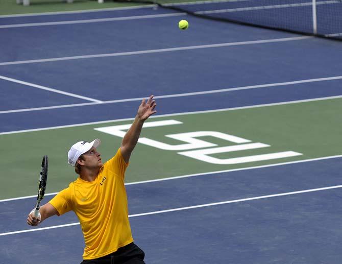
[[[111,17],[111,18],[67,20],[67,21],[39,22],[39,23],[23,23],[23,24],[1,25],[0,29],[55,26],[55,25],[71,25],[71,24],[83,24],[83,23],[98,23],[98,22],[109,22],[109,21],[122,21],[122,20],[136,20],[136,19],[169,17],[169,16],[184,16],[184,15],[186,15],[186,13],[167,13],[167,14],[158,14],[158,15],[121,16],[121,17]]]

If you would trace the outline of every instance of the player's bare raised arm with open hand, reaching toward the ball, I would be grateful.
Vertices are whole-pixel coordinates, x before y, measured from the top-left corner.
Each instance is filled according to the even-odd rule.
[[[142,100],[138,109],[138,113],[135,116],[134,122],[130,129],[126,132],[123,142],[121,143],[121,154],[123,155],[126,163],[128,163],[128,161],[130,160],[132,151],[136,143],[138,142],[143,123],[152,114],[157,112],[154,110],[157,104],[153,100],[153,97],[154,96],[151,95],[147,102],[145,102],[145,99]]]

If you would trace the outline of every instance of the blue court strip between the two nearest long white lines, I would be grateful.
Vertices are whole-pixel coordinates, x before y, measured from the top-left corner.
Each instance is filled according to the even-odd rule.
[[[340,158],[335,158],[127,184],[129,217],[336,189],[342,187],[336,185],[341,166]],[[0,204],[6,221],[11,223],[2,224],[0,236],[79,224],[74,213],[67,213],[43,222],[39,228],[28,229],[21,218],[34,203],[32,198]]]

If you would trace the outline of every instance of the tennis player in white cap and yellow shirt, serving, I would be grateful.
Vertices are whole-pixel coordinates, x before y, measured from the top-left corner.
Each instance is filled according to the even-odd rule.
[[[74,211],[85,241],[81,264],[144,263],[144,252],[133,243],[124,179],[142,125],[156,113],[155,107],[153,95],[147,102],[142,100],[121,147],[104,164],[96,149],[100,139],[75,143],[68,152],[68,163],[75,166],[79,177],[42,205],[37,218],[33,210],[28,215],[27,223],[37,226],[52,215]]]

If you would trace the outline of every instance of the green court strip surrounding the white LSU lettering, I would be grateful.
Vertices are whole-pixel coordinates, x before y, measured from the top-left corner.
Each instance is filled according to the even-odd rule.
[[[175,120],[180,124],[143,129],[141,137],[150,138],[168,145],[184,143],[165,137],[168,134],[216,131],[251,142],[261,142],[270,147],[211,154],[217,159],[262,155],[267,153],[294,151],[303,155],[239,164],[212,164],[196,158],[178,154],[180,151],[163,150],[138,143],[127,173],[127,182],[166,178],[196,173],[230,170],[241,167],[281,163],[293,160],[312,159],[339,155],[342,143],[339,140],[342,123],[338,113],[342,111],[342,99],[319,100],[305,103],[289,103],[237,110],[219,110],[150,119],[149,122]],[[35,132],[3,134],[0,142],[6,159],[1,166],[6,186],[23,184],[26,188],[4,189],[1,198],[33,195],[35,178],[42,153],[50,157],[49,182],[47,192],[53,193],[76,179],[71,166],[67,164],[67,147],[79,138],[92,140],[100,138],[99,151],[107,160],[120,146],[121,138],[96,128],[131,124],[131,121],[111,122],[91,125],[75,125],[66,128],[48,129]],[[125,130],[124,130],[125,131]],[[201,136],[199,139],[225,147],[233,145],[225,139]],[[151,168],[153,168],[151,170]]]

